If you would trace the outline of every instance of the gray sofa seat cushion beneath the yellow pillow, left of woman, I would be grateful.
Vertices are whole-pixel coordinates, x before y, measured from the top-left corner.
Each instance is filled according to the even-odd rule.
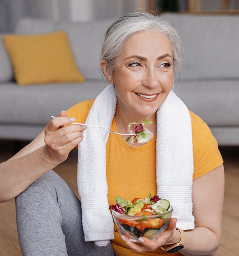
[[[62,110],[95,98],[103,86],[98,81],[32,86],[0,83],[0,89],[0,123],[46,125],[49,115],[58,116]]]

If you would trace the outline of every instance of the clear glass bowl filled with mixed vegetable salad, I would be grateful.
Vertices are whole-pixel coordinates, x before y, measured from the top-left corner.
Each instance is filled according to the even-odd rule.
[[[124,200],[117,196],[111,205],[115,224],[132,242],[139,237],[156,240],[170,222],[173,208],[166,199],[151,193],[145,199]]]

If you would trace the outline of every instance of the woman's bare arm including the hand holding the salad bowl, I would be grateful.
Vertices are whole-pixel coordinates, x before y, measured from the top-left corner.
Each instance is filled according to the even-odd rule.
[[[224,197],[224,168],[216,169],[195,179],[192,184],[193,215],[195,229],[185,232],[186,242],[180,253],[186,256],[212,256],[216,253],[221,239],[221,223]],[[141,244],[123,237],[126,245],[137,252],[156,250],[162,245],[172,245],[180,241],[179,231],[174,229],[172,218],[167,230],[155,241],[145,237]]]

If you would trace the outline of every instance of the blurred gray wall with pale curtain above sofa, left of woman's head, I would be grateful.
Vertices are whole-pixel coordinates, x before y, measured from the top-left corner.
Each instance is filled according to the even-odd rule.
[[[0,33],[13,32],[20,17],[73,22],[115,18],[146,0],[0,0]]]

